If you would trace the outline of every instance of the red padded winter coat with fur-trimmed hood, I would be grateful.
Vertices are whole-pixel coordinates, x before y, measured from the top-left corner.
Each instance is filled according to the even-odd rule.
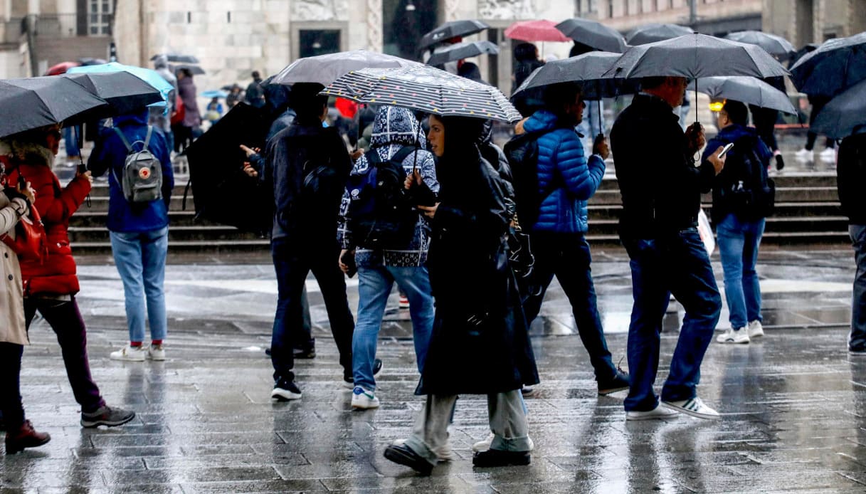
[[[10,180],[17,180],[20,173],[36,191],[36,211],[42,216],[48,236],[48,257],[42,263],[21,262],[24,296],[74,295],[79,290],[67,229],[69,217],[90,192],[90,181],[79,176],[61,189],[60,180],[51,171],[50,156],[47,148],[33,146],[24,159],[13,159],[9,170]]]

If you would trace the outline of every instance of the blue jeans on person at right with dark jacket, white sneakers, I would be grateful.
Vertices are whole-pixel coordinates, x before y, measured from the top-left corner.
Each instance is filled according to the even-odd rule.
[[[727,310],[734,329],[745,328],[747,322],[761,321],[760,284],[755,263],[764,223],[764,218],[744,221],[731,213],[716,226],[721,269],[725,272]]]

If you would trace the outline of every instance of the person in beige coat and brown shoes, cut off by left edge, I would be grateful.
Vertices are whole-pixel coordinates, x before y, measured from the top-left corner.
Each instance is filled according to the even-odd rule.
[[[0,165],[0,175],[5,170]],[[29,214],[34,202],[33,189],[6,185],[0,192],[0,235],[15,237],[15,226]],[[0,296],[0,412],[6,431],[6,454],[35,448],[51,440],[47,432],[37,432],[25,418],[21,403],[21,357],[24,345],[29,345],[24,323],[24,295],[21,268],[15,250],[0,242],[0,276],[3,276],[3,296]]]

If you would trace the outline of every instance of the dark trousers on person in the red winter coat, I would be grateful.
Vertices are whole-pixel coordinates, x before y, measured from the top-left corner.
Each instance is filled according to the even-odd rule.
[[[75,401],[81,405],[81,412],[95,412],[100,406],[105,406],[105,400],[100,396],[100,388],[90,377],[90,361],[87,360],[87,328],[81,319],[78,302],[75,297],[71,301],[52,300],[39,297],[24,299],[24,318],[27,328],[36,315],[36,310],[54,329],[57,342],[60,343],[63,364],[69,385],[75,395]]]

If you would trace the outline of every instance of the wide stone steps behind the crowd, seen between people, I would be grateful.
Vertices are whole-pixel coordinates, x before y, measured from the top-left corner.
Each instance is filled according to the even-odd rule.
[[[776,180],[776,213],[767,218],[762,246],[847,244],[847,220],[839,209],[836,175],[832,172],[792,173],[774,177]],[[184,196],[184,178],[178,177],[171,197],[171,227],[169,250],[174,254],[268,251],[268,239],[243,233],[231,226],[214,224],[195,218],[191,193],[186,210],[181,207]],[[711,199],[703,198],[709,212]],[[620,205],[616,178],[605,176],[596,195],[590,200],[590,231],[588,238],[593,247],[617,248],[617,222]],[[111,243],[105,228],[108,211],[108,187],[97,182],[90,194],[90,205],[72,217],[69,238],[76,254],[110,255]]]

